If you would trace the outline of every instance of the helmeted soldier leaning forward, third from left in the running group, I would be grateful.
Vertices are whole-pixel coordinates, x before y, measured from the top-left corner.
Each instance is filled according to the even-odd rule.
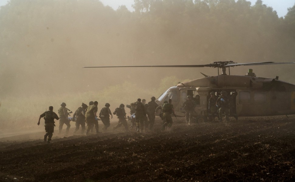
[[[76,122],[76,128],[74,130],[74,133],[76,133],[79,130],[79,127],[81,125],[81,134],[84,134],[85,131],[85,109],[87,108],[87,105],[82,103],[81,107],[79,107],[74,115],[72,121]],[[77,119],[75,119],[75,116]]]

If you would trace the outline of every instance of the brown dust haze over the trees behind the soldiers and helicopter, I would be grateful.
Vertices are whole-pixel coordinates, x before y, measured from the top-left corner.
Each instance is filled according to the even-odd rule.
[[[114,110],[158,97],[178,81],[202,77],[199,72],[217,75],[212,68],[84,66],[294,61],[292,17],[280,19],[260,1],[144,2],[137,1],[134,12],[98,0],[10,0],[2,6],[0,131],[32,129],[48,106],[57,112],[61,102],[75,111],[97,100],[99,108],[109,102]],[[251,68],[257,76],[295,83],[292,66]],[[233,68],[231,74],[245,75],[247,69]],[[167,77],[172,85],[161,81]]]

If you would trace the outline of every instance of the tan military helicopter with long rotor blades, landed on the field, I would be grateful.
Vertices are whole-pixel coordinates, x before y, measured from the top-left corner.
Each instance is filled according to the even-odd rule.
[[[218,68],[217,76],[207,76],[191,81],[178,83],[167,89],[156,99],[158,104],[172,99],[175,114],[185,116],[182,104],[187,96],[200,98],[196,100],[195,117],[199,123],[207,120],[209,114],[208,99],[210,93],[220,95],[222,90],[233,98],[233,111],[237,116],[277,116],[295,114],[295,85],[280,81],[276,78],[256,77],[252,69],[248,69],[245,76],[230,75],[230,67],[255,66],[274,64],[294,64],[295,62],[252,62],[236,63],[233,61],[213,62],[205,65],[165,65],[165,66],[97,66],[84,68],[111,68],[111,67],[213,67]],[[226,74],[228,68],[229,75]],[[219,74],[221,69],[221,74]],[[235,93],[233,95],[233,93]],[[158,112],[159,113],[159,112]]]

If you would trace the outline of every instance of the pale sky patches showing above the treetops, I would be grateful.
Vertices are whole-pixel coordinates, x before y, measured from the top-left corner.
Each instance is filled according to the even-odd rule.
[[[126,5],[126,7],[133,11],[131,5],[134,0],[100,0],[104,5],[109,5],[113,9],[117,9],[120,5]],[[251,5],[254,5],[256,0],[248,0],[251,2]],[[277,13],[278,16],[285,16],[287,14],[287,8],[292,7],[295,4],[295,0],[262,0],[263,4],[271,6]],[[0,0],[0,6],[5,5],[8,0]]]

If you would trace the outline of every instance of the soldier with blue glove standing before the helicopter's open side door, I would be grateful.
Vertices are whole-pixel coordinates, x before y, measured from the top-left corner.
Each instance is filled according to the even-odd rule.
[[[221,96],[218,97],[216,101],[216,106],[218,107],[218,114],[219,114],[219,122],[222,122],[222,114],[225,114],[225,120],[226,122],[229,122],[228,117],[228,110],[229,110],[229,99],[227,97],[226,91],[221,91]]]

